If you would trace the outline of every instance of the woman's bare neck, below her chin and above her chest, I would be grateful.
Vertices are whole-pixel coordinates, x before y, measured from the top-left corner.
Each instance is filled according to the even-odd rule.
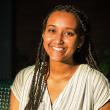
[[[49,76],[55,79],[70,77],[76,68],[77,65],[74,63],[66,64],[62,62],[50,61]]]

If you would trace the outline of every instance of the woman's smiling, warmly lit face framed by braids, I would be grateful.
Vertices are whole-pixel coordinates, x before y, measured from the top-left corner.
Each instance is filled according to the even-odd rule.
[[[76,17],[68,12],[53,12],[43,32],[43,45],[50,61],[73,63],[73,54],[79,46]]]

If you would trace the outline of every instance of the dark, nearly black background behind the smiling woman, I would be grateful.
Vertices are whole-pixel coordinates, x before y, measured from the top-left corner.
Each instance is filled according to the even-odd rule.
[[[22,68],[35,63],[42,20],[60,2],[71,2],[88,15],[99,61],[104,64],[110,60],[110,8],[106,0],[3,0],[0,1],[0,80],[13,79]],[[110,68],[110,62],[106,64]]]

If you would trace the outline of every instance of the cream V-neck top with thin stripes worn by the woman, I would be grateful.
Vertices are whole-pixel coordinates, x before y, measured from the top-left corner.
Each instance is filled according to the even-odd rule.
[[[22,70],[16,77],[11,90],[24,110],[28,102],[34,66]],[[105,76],[86,64],[81,64],[64,90],[51,104],[46,88],[39,110],[98,110],[110,100],[110,84]]]

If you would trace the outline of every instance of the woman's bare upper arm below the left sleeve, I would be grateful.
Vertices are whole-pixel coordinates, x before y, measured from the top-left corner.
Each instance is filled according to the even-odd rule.
[[[14,96],[12,91],[10,94],[10,110],[19,110],[19,101]]]

